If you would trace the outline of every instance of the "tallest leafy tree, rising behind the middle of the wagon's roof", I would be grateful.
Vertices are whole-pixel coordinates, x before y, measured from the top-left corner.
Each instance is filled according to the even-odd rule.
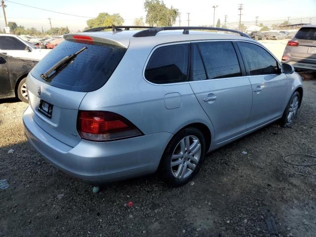
[[[160,0],[145,0],[146,23],[150,26],[172,26],[179,15],[177,8],[166,7]]]

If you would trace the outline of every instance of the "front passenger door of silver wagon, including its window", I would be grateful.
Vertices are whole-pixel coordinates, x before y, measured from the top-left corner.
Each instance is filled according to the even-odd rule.
[[[286,106],[287,77],[265,48],[237,42],[252,87],[252,108],[247,125],[251,130],[282,116]]]

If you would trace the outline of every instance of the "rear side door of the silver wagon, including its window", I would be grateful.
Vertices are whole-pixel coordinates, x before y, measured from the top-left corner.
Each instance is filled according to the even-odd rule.
[[[233,42],[192,42],[191,51],[190,85],[213,124],[215,143],[242,134],[252,90]]]

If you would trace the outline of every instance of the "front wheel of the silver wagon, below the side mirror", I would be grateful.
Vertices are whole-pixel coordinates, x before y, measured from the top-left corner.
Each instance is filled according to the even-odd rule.
[[[298,93],[297,91],[295,91],[285,110],[284,110],[284,113],[283,113],[283,116],[282,118],[280,119],[280,124],[284,127],[289,127],[291,126],[291,124],[293,123],[296,115],[297,115],[297,111],[298,111],[298,108],[300,106],[300,101],[301,101],[301,95],[300,93]]]

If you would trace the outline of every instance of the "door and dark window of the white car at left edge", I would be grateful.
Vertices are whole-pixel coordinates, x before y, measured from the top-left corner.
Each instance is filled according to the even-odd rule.
[[[13,36],[0,36],[0,53],[12,57],[28,58],[31,52],[28,51],[27,46],[22,40]]]

